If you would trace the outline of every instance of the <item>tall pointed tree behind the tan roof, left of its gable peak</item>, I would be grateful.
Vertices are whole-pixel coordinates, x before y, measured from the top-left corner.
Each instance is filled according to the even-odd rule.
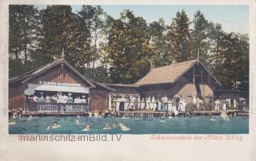
[[[170,51],[175,61],[188,61],[192,58],[190,20],[184,10],[178,12],[168,32]]]

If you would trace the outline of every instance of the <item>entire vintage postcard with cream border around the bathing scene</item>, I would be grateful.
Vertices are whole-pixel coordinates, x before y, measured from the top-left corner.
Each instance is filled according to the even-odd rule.
[[[94,142],[122,146],[125,138],[135,144],[144,138],[142,149],[151,142],[173,144],[172,149],[175,143],[181,148],[179,142],[255,146],[255,139],[249,144],[255,130],[250,128],[254,1],[2,4],[8,23],[2,27],[8,38],[6,137],[27,143],[86,141],[94,149]],[[129,145],[134,151],[135,144]],[[208,151],[204,160],[241,160],[228,149],[218,151],[221,158],[209,158]],[[136,159],[130,152],[105,159],[171,158],[156,150],[151,159]],[[256,159],[250,151],[241,153],[245,160]],[[184,157],[175,160],[203,159]]]

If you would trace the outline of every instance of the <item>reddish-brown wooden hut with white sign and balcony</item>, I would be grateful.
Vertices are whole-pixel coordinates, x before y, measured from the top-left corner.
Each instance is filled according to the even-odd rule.
[[[30,96],[25,95],[26,89],[30,89]],[[89,80],[66,60],[60,59],[10,78],[9,109],[71,114],[89,110],[102,111],[108,108],[110,92],[114,92],[114,89]],[[41,96],[43,101],[38,101]],[[58,99],[60,97],[62,100]],[[71,101],[66,100],[69,97]]]

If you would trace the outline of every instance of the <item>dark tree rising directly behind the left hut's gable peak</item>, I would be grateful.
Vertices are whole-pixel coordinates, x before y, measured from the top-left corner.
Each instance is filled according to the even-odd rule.
[[[46,6],[46,9],[41,11],[42,38],[34,61],[42,65],[64,57],[74,65],[75,51],[70,48],[70,45],[75,44],[72,39],[74,29],[74,14],[71,13],[70,6]],[[62,55],[63,51],[65,55]]]

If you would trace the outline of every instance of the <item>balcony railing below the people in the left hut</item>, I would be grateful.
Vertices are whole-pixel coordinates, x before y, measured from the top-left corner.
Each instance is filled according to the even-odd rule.
[[[26,103],[26,112],[88,112],[90,104],[77,103],[54,103],[54,102],[28,102]]]

